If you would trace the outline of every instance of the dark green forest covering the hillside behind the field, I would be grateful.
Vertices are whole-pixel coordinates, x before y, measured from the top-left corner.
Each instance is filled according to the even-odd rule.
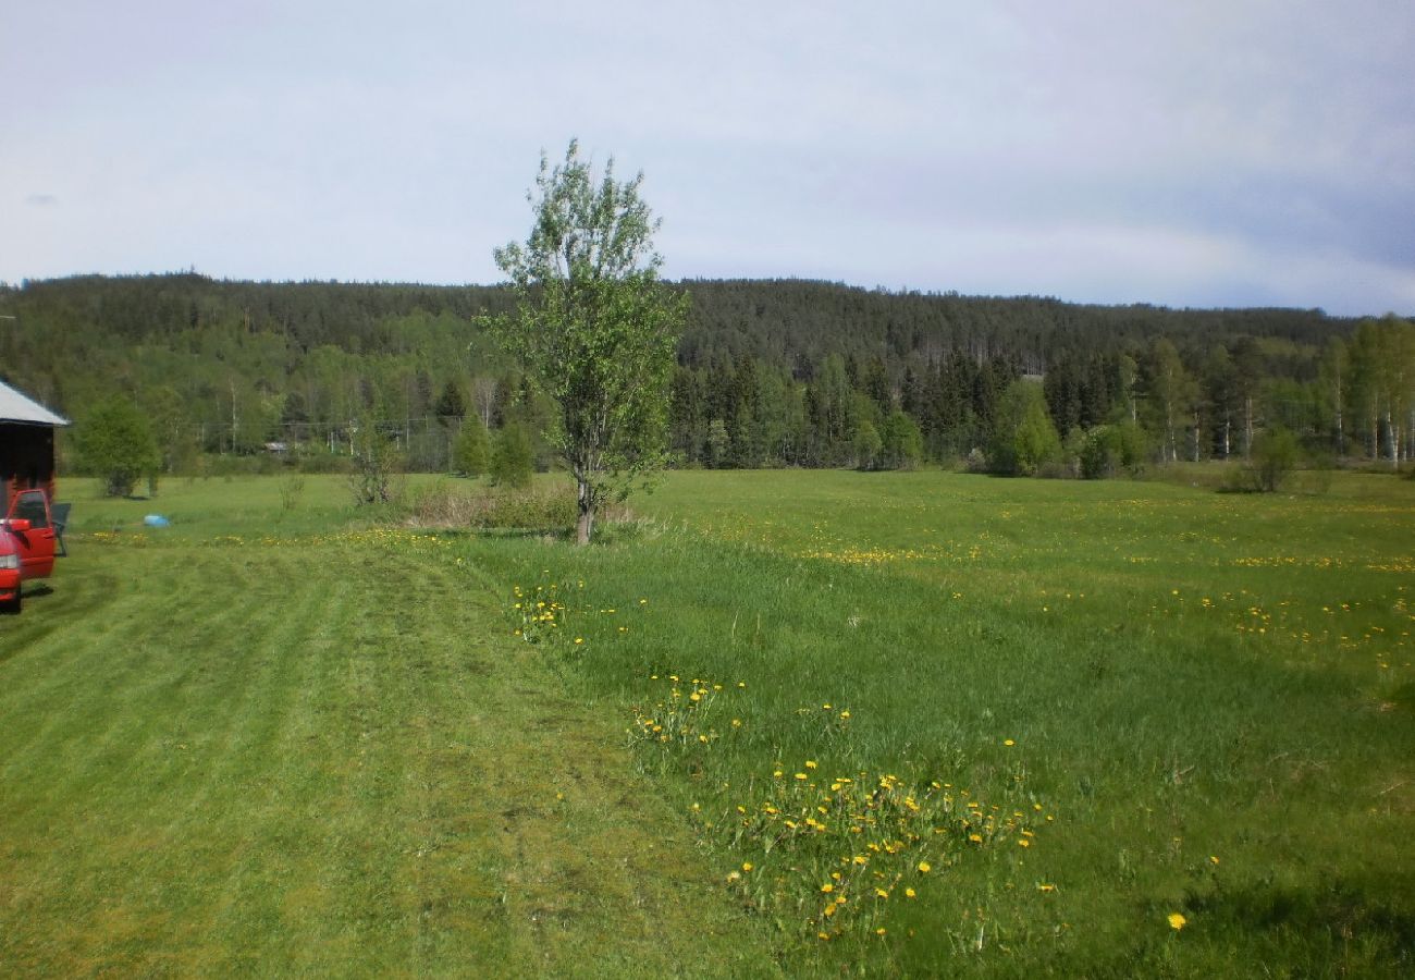
[[[812,280],[686,280],[672,387],[682,466],[1108,476],[1241,459],[1285,433],[1312,459],[1415,453],[1415,326],[1322,310],[1091,306]],[[458,466],[468,428],[548,406],[485,317],[499,286],[231,282],[195,272],[0,286],[0,378],[82,422],[136,406],[163,473],[338,469],[359,425],[408,469]],[[75,440],[67,469],[83,470]]]

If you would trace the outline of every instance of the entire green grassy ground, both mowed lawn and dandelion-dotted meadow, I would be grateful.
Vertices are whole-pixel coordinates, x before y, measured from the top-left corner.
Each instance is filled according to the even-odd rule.
[[[587,549],[307,483],[65,484],[4,973],[1412,967],[1409,482],[675,473]]]

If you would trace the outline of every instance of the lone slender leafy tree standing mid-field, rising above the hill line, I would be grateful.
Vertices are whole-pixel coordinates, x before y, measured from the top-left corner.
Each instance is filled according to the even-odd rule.
[[[529,238],[495,249],[516,309],[492,327],[556,406],[548,435],[577,486],[580,544],[604,500],[623,500],[668,459],[668,389],[689,300],[658,279],[642,180],[618,183],[611,159],[596,186],[570,140],[563,163],[541,157]]]

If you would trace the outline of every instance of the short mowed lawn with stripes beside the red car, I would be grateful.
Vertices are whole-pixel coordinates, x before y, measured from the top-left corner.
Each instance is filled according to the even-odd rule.
[[[475,569],[314,535],[337,490],[69,489],[99,532],[0,619],[0,974],[770,972]]]

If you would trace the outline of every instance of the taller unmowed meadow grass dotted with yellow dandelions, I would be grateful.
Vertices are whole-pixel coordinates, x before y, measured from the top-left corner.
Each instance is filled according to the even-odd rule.
[[[1259,498],[683,473],[645,510],[674,530],[474,554],[522,591],[555,586],[563,609],[546,649],[620,705],[724,895],[770,922],[795,962],[1067,974],[1411,964],[1408,484],[1350,476],[1323,496]],[[712,714],[675,710],[665,684],[678,704],[710,693]],[[780,793],[797,773],[821,797],[839,797],[842,776],[872,790],[889,776],[934,807],[927,834],[891,838],[911,862],[839,837],[836,817],[887,823],[857,802],[815,800],[824,831],[798,833],[809,807],[797,828],[767,826],[764,807],[788,811]],[[993,816],[981,841],[966,802]],[[788,847],[802,837],[807,850]],[[862,854],[870,874],[848,908],[867,913],[839,929],[843,913],[824,916],[841,894],[831,865]],[[918,861],[932,870],[920,875]],[[900,901],[903,888],[916,898]]]

